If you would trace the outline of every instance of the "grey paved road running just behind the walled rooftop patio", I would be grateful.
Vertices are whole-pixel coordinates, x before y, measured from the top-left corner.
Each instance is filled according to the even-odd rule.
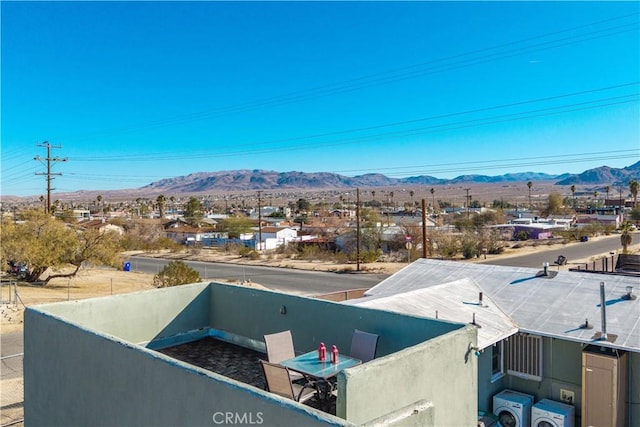
[[[131,271],[156,274],[171,260],[131,257]],[[329,273],[279,267],[250,266],[217,262],[186,261],[208,280],[250,280],[269,289],[298,295],[316,295],[348,289],[371,288],[389,277],[375,273]]]

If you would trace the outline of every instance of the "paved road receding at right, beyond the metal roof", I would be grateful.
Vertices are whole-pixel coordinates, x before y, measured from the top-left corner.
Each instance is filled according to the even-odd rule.
[[[632,239],[634,244],[640,241],[640,233],[632,233]],[[537,268],[542,267],[542,264],[545,262],[548,262],[549,265],[553,265],[553,262],[558,259],[559,255],[564,255],[567,258],[567,265],[571,265],[578,260],[586,262],[590,257],[608,254],[612,251],[620,251],[621,249],[620,235],[613,234],[611,236],[602,237],[596,241],[571,243],[562,248],[518,255],[509,258],[492,260],[491,255],[487,255],[487,260],[482,261],[482,263],[512,267]]]

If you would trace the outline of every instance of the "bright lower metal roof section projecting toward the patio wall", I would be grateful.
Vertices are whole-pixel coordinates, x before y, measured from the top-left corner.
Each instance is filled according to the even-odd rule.
[[[478,347],[484,349],[518,332],[518,326],[472,279],[461,279],[390,296],[369,296],[347,304],[478,325]]]

